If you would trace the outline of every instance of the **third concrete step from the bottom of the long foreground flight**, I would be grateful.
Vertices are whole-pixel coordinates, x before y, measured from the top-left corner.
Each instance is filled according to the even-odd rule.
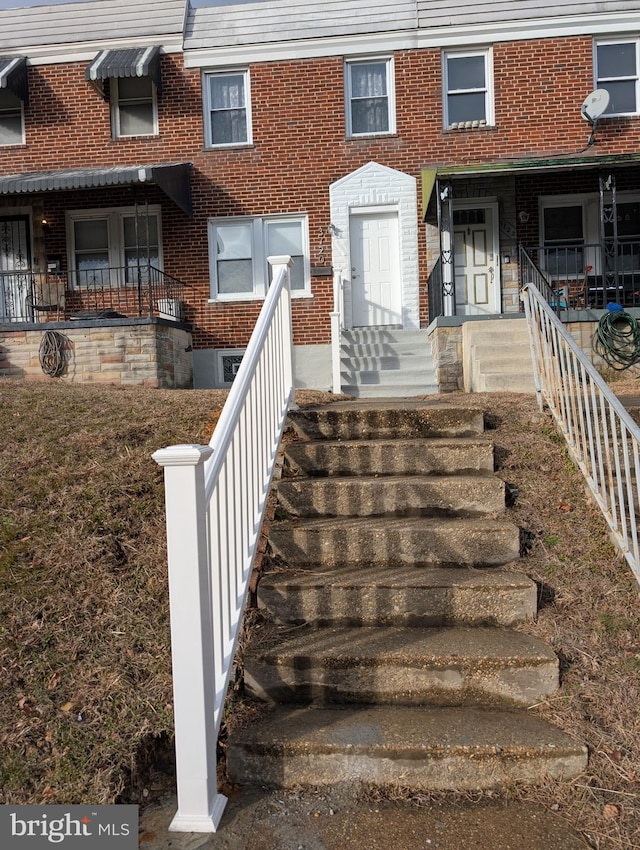
[[[500,567],[375,565],[267,573],[258,605],[276,623],[513,626],[535,618],[537,592],[526,575]]]

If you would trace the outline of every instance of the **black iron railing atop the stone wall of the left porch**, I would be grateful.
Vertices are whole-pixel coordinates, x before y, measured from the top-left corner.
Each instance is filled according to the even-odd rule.
[[[143,316],[181,321],[185,288],[152,265],[59,274],[0,270],[0,322]]]

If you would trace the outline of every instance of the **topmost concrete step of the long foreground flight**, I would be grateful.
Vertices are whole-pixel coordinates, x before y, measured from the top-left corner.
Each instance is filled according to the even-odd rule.
[[[452,407],[429,401],[336,402],[289,412],[298,438],[307,440],[475,437],[484,431],[478,407]]]

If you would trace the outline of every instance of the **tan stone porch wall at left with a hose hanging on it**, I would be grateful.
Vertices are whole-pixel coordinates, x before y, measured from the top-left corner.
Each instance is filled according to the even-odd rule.
[[[158,319],[56,322],[0,329],[0,377],[52,380],[42,371],[45,331],[62,334],[67,363],[59,380],[191,389],[191,332]]]

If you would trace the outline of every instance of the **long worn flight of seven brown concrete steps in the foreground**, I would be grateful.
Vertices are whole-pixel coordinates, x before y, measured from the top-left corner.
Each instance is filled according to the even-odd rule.
[[[517,630],[537,592],[513,568],[482,411],[341,402],[290,421],[258,588],[273,634],[244,659],[271,708],[231,736],[232,781],[483,789],[581,772],[585,748],[527,711],[558,688],[558,660]]]

